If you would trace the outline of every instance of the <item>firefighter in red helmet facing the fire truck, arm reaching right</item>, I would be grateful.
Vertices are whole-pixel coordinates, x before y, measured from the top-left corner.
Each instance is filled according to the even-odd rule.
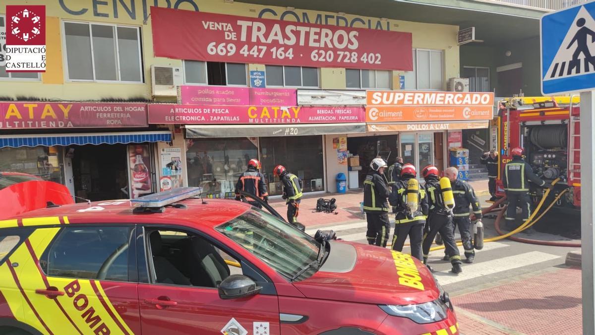
[[[514,227],[516,207],[522,209],[523,222],[531,216],[531,198],[529,197],[529,181],[534,182],[538,186],[546,185],[546,182],[539,178],[531,166],[522,160],[522,149],[513,148],[511,150],[512,160],[506,163],[504,168],[504,190],[506,191],[506,198],[508,198],[508,209],[506,210],[506,229],[512,231]],[[550,186],[552,188],[552,186]]]

